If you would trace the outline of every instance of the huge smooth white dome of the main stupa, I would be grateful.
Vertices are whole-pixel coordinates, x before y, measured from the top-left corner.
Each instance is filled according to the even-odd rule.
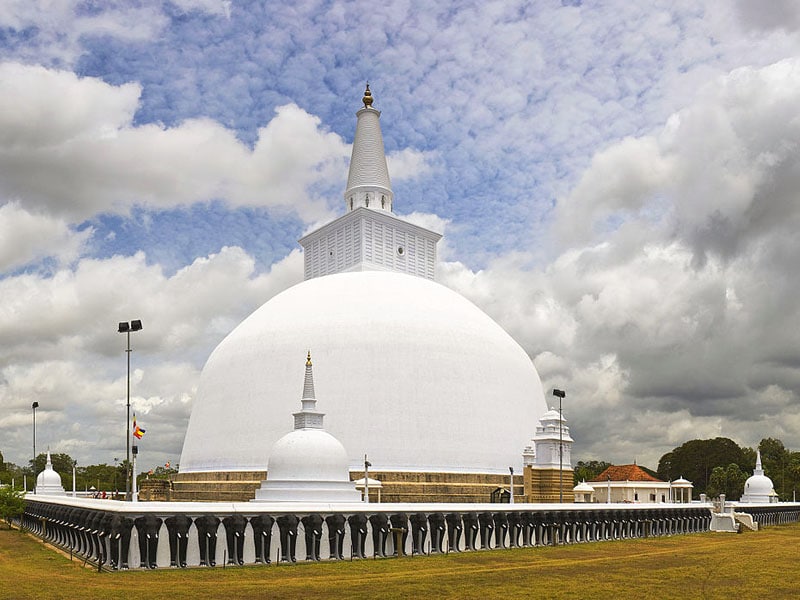
[[[547,410],[525,351],[432,281],[366,271],[304,281],[245,319],[200,377],[181,472],[259,471],[292,426],[302,357],[350,467],[507,473]]]

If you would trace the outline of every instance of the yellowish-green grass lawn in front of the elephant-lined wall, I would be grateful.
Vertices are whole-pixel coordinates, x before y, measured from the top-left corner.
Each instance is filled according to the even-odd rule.
[[[97,573],[0,529],[0,599],[797,598],[800,524],[559,548]]]

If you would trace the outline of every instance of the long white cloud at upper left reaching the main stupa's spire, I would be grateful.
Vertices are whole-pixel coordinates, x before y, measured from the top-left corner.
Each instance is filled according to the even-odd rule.
[[[278,107],[250,150],[208,119],[133,126],[140,91],[1,65],[0,108],[7,106],[0,110],[0,190],[28,210],[78,222],[133,205],[164,209],[216,198],[307,220],[330,217],[313,189],[343,182],[350,149],[319,118],[294,104]],[[15,106],[27,108],[20,114]],[[405,175],[425,170],[422,154],[399,156]]]

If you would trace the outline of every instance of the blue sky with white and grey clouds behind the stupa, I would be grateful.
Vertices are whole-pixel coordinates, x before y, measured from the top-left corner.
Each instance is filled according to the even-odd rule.
[[[792,0],[6,0],[6,460],[33,401],[39,450],[124,457],[138,318],[142,466],[178,462],[205,359],[344,208],[366,80],[396,212],[567,390],[575,459],[800,448]]]

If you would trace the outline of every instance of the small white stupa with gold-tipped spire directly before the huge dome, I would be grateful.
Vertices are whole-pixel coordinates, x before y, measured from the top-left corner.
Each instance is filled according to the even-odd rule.
[[[302,409],[294,413],[294,431],[272,447],[267,479],[253,502],[359,502],[361,494],[350,481],[344,446],[323,429],[317,412],[311,352],[306,359]]]

